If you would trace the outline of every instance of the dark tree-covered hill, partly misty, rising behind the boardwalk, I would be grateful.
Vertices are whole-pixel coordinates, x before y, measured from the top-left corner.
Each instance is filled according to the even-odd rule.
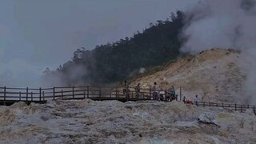
[[[107,84],[126,79],[141,67],[158,66],[179,56],[183,13],[172,13],[170,19],[150,23],[150,27],[131,38],[96,46],[94,50],[78,49],[69,62],[57,70],[45,71],[46,79],[58,77],[62,85]]]

